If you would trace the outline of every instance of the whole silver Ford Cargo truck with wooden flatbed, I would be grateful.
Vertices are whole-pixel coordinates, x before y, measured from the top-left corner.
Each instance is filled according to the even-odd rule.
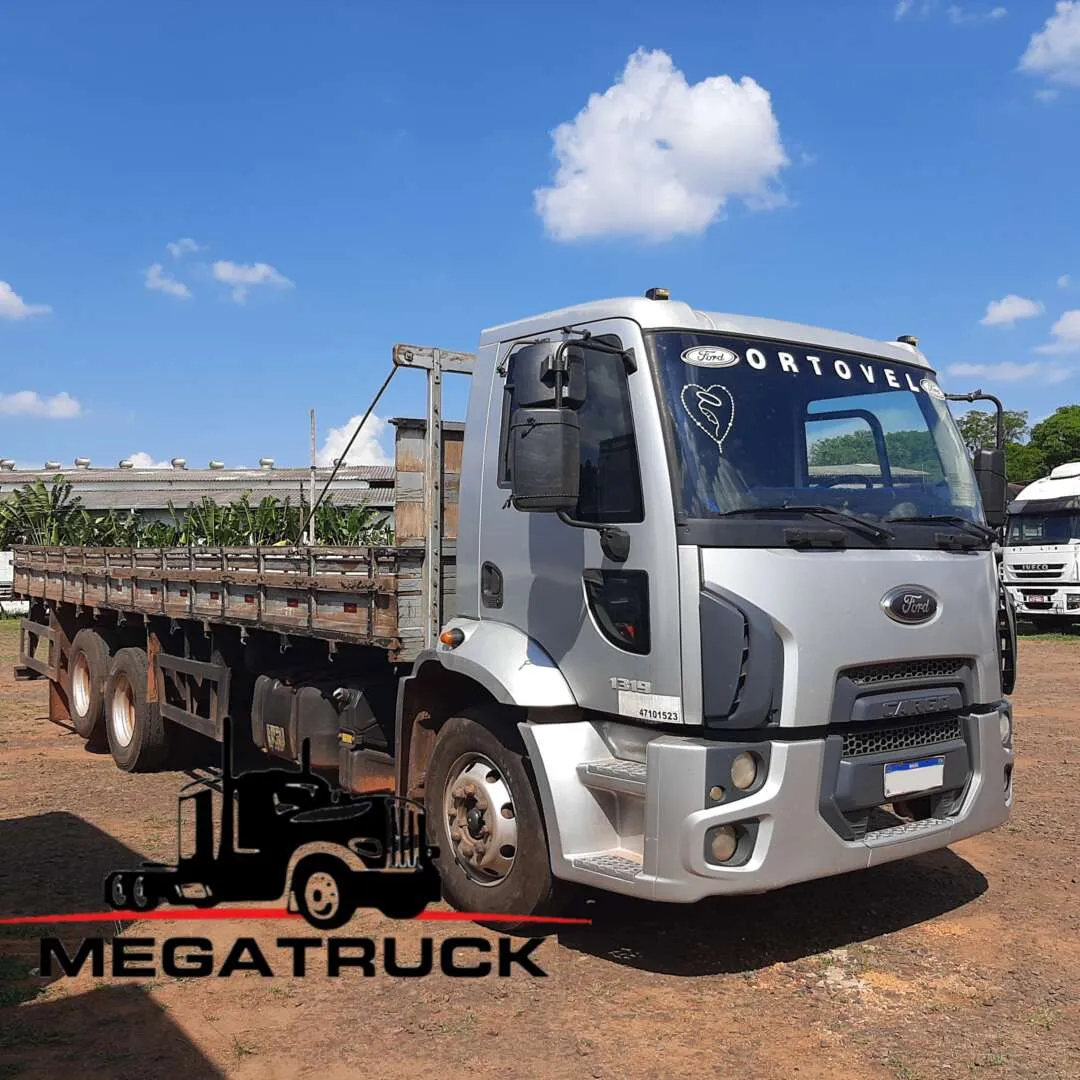
[[[395,421],[392,548],[16,552],[54,719],[127,770],[227,714],[307,740],[426,806],[478,913],[760,892],[1007,820],[1001,455],[968,458],[914,338],[650,289],[394,363],[428,410]]]

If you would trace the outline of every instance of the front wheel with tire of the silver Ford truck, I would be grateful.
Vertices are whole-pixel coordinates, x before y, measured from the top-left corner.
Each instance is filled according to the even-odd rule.
[[[565,887],[551,873],[525,747],[499,710],[470,710],[443,725],[424,787],[429,841],[454,907],[526,916],[562,909]],[[527,924],[476,921],[503,933]]]

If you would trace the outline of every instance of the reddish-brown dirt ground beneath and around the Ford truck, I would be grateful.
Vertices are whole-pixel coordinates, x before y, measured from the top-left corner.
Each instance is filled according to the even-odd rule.
[[[183,773],[132,777],[50,725],[0,620],[0,917],[99,910],[109,869],[175,856]],[[766,896],[590,905],[532,978],[45,981],[0,927],[0,1080],[185,1077],[1080,1077],[1080,638],[1021,652],[1017,801],[996,833]],[[111,924],[52,927],[73,944]],[[254,936],[305,923],[154,922]],[[350,935],[497,935],[357,916]],[[227,945],[222,944],[222,948]]]

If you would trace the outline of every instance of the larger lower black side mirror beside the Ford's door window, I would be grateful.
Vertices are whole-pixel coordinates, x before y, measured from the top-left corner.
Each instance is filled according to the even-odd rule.
[[[509,447],[514,509],[553,512],[577,507],[580,444],[573,409],[515,409]]]

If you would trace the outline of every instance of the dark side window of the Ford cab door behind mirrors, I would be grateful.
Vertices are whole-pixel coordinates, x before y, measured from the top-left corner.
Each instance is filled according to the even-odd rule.
[[[617,525],[645,517],[630,383],[622,359],[610,352],[584,352],[585,402],[578,409],[581,428],[580,496],[570,515],[582,522]],[[514,411],[514,357],[507,369],[499,443],[499,486],[510,486],[510,417]]]

